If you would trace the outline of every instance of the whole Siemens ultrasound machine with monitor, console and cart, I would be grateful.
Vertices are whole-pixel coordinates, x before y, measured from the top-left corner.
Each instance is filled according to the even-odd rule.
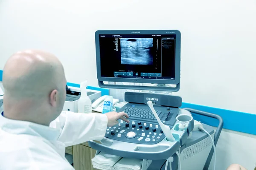
[[[100,87],[179,91],[180,31],[96,31],[95,39]],[[142,170],[208,170],[211,160],[215,161],[214,146],[223,127],[220,116],[180,108],[182,98],[169,94],[125,92],[125,101],[116,108],[127,113],[130,122],[119,120],[107,127],[104,139],[90,141],[96,155],[141,159]],[[217,119],[216,130],[193,118],[199,115]]]

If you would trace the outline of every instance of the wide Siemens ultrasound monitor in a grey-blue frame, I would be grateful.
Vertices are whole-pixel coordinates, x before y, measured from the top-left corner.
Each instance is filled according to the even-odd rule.
[[[178,91],[180,31],[96,31],[97,78],[102,88]],[[175,85],[172,88],[110,85],[139,82]]]

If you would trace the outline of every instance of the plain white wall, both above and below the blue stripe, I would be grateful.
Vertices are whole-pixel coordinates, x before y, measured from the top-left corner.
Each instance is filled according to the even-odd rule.
[[[96,30],[178,29],[183,101],[256,113],[255,17],[255,0],[1,0],[0,69],[12,53],[40,48],[59,57],[68,82],[97,86]],[[244,142],[256,139],[222,133],[219,169],[253,168],[255,148]]]

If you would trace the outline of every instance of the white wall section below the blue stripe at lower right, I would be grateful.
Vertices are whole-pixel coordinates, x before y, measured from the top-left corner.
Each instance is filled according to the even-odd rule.
[[[225,170],[234,163],[253,170],[256,167],[255,144],[255,135],[222,130],[216,147],[216,170]]]

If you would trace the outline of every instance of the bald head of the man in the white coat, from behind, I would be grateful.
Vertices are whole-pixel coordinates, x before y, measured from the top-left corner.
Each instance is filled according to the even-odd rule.
[[[22,110],[26,112],[17,113],[21,115],[28,115],[31,112],[34,112],[31,114],[35,114],[35,111],[45,112],[47,109],[47,112],[53,111],[46,105],[48,103],[51,106],[54,102],[51,101],[54,100],[51,97],[63,98],[65,85],[63,66],[53,54],[38,50],[17,52],[8,59],[3,69],[4,112],[9,108],[9,113],[14,114],[11,111],[13,109],[10,108],[14,108],[14,106],[19,110],[22,107]],[[53,91],[61,92],[61,96],[57,94],[51,96]],[[40,110],[42,105],[44,110]],[[7,112],[5,115],[9,113]]]

